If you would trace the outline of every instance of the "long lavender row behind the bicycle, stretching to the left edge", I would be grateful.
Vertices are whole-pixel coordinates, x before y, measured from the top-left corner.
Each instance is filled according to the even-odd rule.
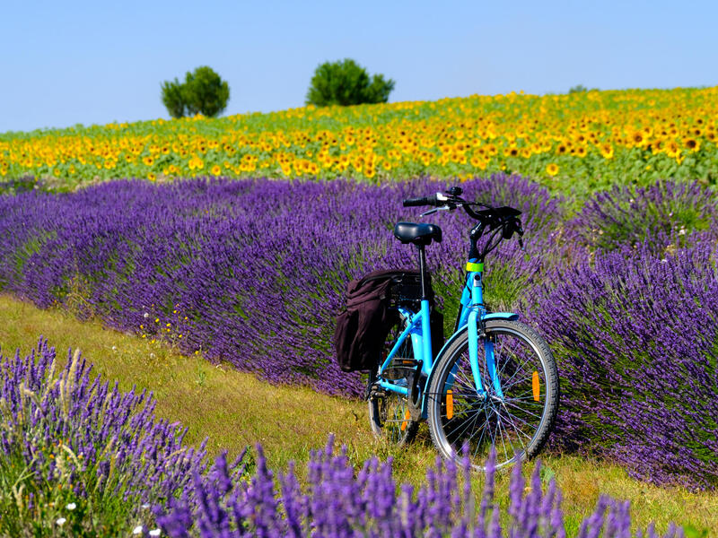
[[[414,250],[391,234],[394,222],[418,213],[406,213],[401,200],[445,187],[199,179],[4,197],[0,289],[171,340],[185,352],[202,349],[274,382],[358,395],[359,377],[337,368],[330,347],[346,282],[416,265]],[[488,203],[527,211],[528,253],[510,245],[489,265],[489,299],[508,306],[539,282],[557,202],[517,177],[466,187]],[[429,263],[437,290],[456,294],[468,221],[456,214],[441,224],[446,239],[430,248]]]

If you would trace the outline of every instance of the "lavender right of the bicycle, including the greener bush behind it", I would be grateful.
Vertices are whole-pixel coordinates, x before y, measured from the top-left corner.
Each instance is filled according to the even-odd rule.
[[[716,200],[697,183],[614,187],[568,221],[583,255],[526,305],[562,377],[554,446],[718,485]]]

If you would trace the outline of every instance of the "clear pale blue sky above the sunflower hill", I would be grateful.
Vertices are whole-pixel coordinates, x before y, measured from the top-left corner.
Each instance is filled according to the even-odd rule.
[[[0,132],[169,117],[162,81],[210,65],[225,114],[300,107],[320,63],[354,58],[390,101],[718,84],[715,2],[0,4]]]

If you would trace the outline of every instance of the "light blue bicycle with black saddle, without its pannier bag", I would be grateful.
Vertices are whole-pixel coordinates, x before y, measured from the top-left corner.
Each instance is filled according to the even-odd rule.
[[[404,445],[426,420],[443,457],[458,459],[466,444],[472,467],[480,470],[491,447],[496,467],[538,454],[556,421],[559,386],[556,362],[543,338],[517,314],[489,312],[484,304],[486,255],[514,234],[523,248],[521,212],[468,202],[461,194],[460,187],[451,187],[446,194],[403,203],[433,206],[422,216],[462,208],[477,221],[468,233],[466,284],[454,333],[434,358],[425,247],[440,242],[442,230],[398,222],[394,236],[418,251],[420,297],[414,307],[399,301],[398,321],[384,343],[379,368],[370,371],[367,399],[377,436]]]

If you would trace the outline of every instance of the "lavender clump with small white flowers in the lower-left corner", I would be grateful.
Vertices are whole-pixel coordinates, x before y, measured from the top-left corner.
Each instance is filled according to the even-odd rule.
[[[204,473],[204,445],[154,419],[151,395],[121,392],[78,353],[57,368],[40,340],[0,355],[0,534],[128,535],[153,528],[150,508]]]

